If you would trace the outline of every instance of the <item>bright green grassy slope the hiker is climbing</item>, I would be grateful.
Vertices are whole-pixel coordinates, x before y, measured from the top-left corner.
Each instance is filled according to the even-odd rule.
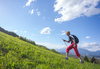
[[[100,65],[78,59],[63,59],[65,55],[24,42],[0,32],[0,69],[100,69]]]

